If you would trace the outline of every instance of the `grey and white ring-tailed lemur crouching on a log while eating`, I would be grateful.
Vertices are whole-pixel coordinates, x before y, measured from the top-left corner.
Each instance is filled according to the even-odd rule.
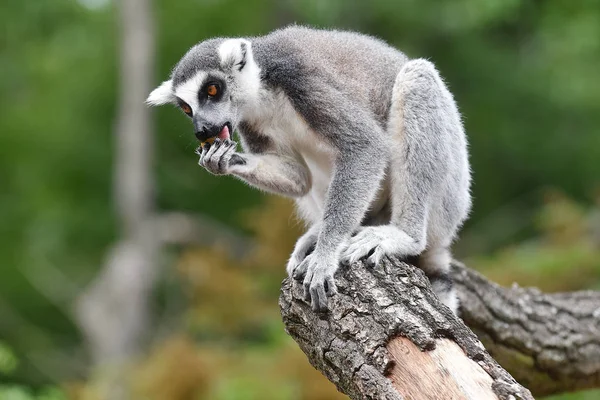
[[[197,44],[147,102],[179,105],[201,142],[214,139],[199,152],[209,172],[296,200],[309,229],[287,272],[313,309],[336,293],[340,260],[419,255],[456,311],[449,246],[470,209],[470,172],[432,63],[365,35],[293,26]]]

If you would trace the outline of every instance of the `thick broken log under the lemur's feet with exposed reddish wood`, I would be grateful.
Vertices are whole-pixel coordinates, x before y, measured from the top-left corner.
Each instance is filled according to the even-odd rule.
[[[336,275],[327,314],[283,282],[288,333],[311,364],[352,399],[533,399],[432,293],[423,272],[398,260],[357,262]]]

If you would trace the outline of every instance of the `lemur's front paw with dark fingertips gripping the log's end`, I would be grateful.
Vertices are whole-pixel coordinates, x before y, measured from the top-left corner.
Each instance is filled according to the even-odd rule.
[[[304,299],[310,301],[314,311],[327,311],[327,297],[337,293],[333,278],[337,266],[337,261],[313,253],[306,256],[294,271],[294,279],[301,280],[304,277]]]

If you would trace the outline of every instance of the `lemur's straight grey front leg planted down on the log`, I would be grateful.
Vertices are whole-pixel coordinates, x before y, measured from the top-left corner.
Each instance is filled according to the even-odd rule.
[[[337,154],[315,250],[294,272],[294,278],[303,279],[305,299],[317,311],[327,310],[327,297],[337,292],[334,274],[342,246],[375,198],[389,157],[387,141],[372,116],[342,95],[330,98],[336,99],[338,108],[321,106],[319,99],[305,103],[312,107],[313,121],[323,121],[313,129],[336,147]]]

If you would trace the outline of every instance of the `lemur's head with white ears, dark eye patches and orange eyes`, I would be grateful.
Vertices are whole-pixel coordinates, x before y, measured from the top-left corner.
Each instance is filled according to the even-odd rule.
[[[192,47],[171,79],[154,89],[146,103],[175,104],[193,121],[201,142],[229,139],[244,109],[258,96],[260,69],[245,39],[210,39]]]

